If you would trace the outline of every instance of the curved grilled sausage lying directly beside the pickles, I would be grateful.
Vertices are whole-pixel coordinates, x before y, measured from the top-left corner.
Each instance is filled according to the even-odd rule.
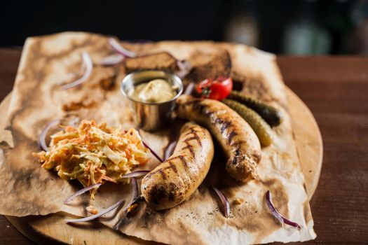
[[[257,176],[261,145],[250,125],[222,102],[182,95],[177,99],[177,116],[207,127],[224,148],[227,172],[239,181]]]

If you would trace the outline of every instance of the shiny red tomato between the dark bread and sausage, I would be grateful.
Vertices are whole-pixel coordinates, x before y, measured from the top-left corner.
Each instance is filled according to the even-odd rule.
[[[197,85],[197,92],[202,97],[222,100],[228,97],[233,90],[233,79],[222,76],[214,79],[205,79]]]

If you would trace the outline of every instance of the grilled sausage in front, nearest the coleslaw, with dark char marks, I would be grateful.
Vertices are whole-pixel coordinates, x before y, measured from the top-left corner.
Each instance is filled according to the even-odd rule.
[[[141,192],[152,209],[170,209],[184,202],[207,175],[213,158],[210,132],[186,123],[174,153],[142,179]]]

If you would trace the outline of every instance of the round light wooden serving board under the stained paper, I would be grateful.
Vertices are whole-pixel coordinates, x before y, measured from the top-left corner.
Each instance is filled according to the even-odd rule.
[[[8,94],[1,102],[0,115],[6,115],[10,95]],[[311,111],[289,88],[287,88],[287,99],[298,156],[306,179],[306,190],[311,199],[320,179],[323,154],[322,137]],[[23,235],[39,244],[50,241],[65,244],[156,244],[123,235],[100,223],[67,225],[64,223],[67,217],[69,217],[67,214],[57,213],[48,216],[7,216],[6,218]]]

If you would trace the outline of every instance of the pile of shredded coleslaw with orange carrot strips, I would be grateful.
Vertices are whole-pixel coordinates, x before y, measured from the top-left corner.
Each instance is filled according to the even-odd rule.
[[[47,152],[33,153],[41,167],[55,169],[62,179],[78,179],[84,187],[124,182],[122,176],[149,160],[149,148],[133,128],[126,132],[93,120],[63,128],[51,135]]]

